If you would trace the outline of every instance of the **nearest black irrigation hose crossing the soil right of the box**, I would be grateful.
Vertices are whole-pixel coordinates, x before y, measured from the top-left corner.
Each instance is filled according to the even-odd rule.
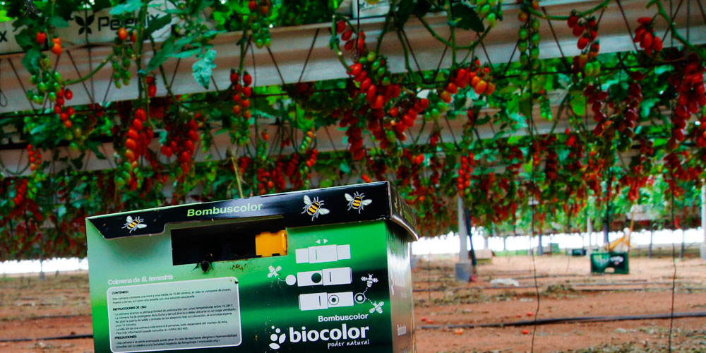
[[[550,325],[553,323],[602,323],[608,321],[634,321],[634,320],[654,320],[659,318],[702,318],[706,317],[706,311],[693,311],[687,313],[654,313],[647,315],[624,315],[624,316],[574,316],[566,318],[538,318],[534,320],[515,321],[513,323],[460,323],[453,325],[422,325],[421,329],[438,328],[503,328],[527,325]]]

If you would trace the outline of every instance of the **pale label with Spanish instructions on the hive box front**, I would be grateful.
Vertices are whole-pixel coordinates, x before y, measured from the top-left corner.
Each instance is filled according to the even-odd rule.
[[[145,352],[242,342],[235,277],[112,287],[110,349]]]

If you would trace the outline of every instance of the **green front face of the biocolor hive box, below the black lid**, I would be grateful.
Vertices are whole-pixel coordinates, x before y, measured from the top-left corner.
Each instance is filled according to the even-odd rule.
[[[209,283],[225,278],[234,278],[237,284],[239,332],[234,330],[233,334],[239,335],[239,344],[184,352],[390,352],[392,301],[385,285],[390,282],[385,221],[287,229],[287,255],[218,261],[207,272],[196,263],[173,265],[171,234],[172,227],[168,227],[164,234],[152,237],[107,240],[87,224],[95,352],[114,351],[111,347],[116,335],[109,335],[109,331],[119,323],[114,320],[116,302],[112,296],[125,291],[179,294],[180,299],[172,295],[159,306],[160,310],[176,310],[182,306],[177,305],[179,300],[189,300],[184,299],[191,295],[188,292],[205,292]],[[238,234],[233,237],[237,239]],[[151,293],[145,285],[151,286]],[[203,306],[218,304],[203,300]],[[144,310],[152,309],[153,304],[146,303]],[[208,315],[215,313],[209,311]],[[152,320],[160,323],[157,319]],[[167,322],[188,324],[189,330],[198,328],[181,318]],[[219,339],[224,340],[208,338]]]

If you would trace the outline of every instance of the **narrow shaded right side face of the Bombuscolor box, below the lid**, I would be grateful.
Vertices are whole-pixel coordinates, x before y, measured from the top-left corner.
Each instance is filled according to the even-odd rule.
[[[388,277],[390,278],[390,313],[392,313],[393,352],[416,352],[414,349],[414,299],[411,246],[407,233],[388,222]]]

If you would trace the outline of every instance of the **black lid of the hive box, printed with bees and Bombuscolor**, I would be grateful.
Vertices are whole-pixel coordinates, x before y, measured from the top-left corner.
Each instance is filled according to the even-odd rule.
[[[414,210],[389,181],[150,208],[87,220],[105,239],[118,239],[161,234],[170,223],[272,216],[283,217],[287,228],[385,219],[419,239]]]

